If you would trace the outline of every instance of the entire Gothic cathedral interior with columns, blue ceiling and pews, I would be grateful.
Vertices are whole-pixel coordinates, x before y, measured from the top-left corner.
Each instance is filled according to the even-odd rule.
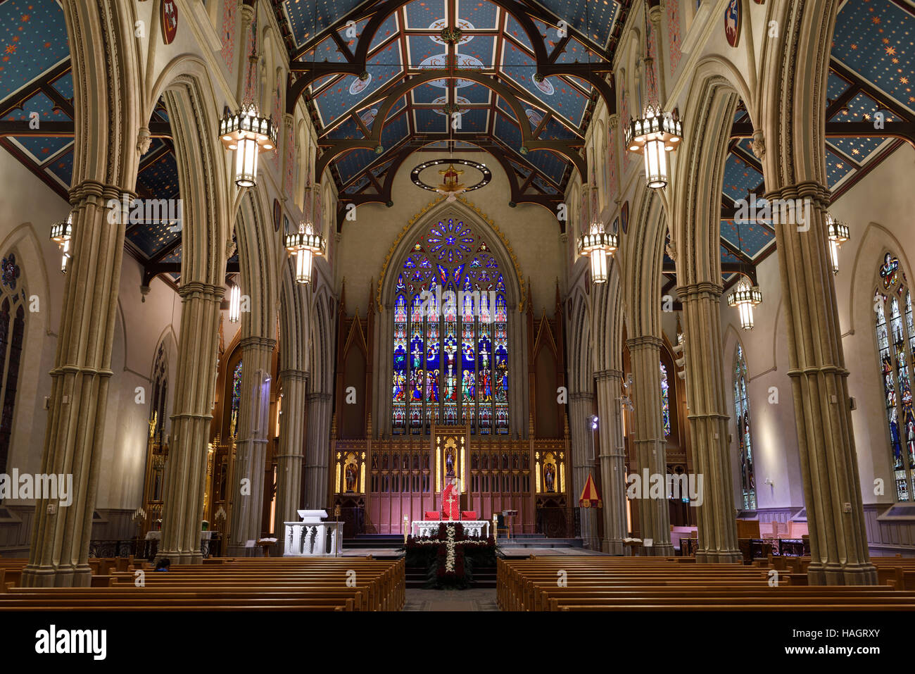
[[[436,559],[468,610],[642,601],[519,589],[560,559],[915,607],[912,0],[0,0],[0,47],[0,617],[341,556],[377,610]]]

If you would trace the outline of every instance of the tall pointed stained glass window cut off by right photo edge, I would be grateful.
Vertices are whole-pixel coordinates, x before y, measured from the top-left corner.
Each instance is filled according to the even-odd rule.
[[[874,320],[893,479],[897,500],[910,501],[915,478],[915,412],[911,391],[915,326],[911,293],[896,256],[884,255],[878,271],[880,283],[874,291]]]

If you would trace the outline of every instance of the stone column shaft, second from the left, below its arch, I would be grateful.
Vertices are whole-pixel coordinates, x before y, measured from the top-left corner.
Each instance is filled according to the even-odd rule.
[[[171,445],[162,496],[162,541],[158,551],[158,557],[167,557],[177,564],[203,561],[200,526],[223,292],[221,286],[196,281],[178,288],[182,330],[178,337],[178,382],[171,416]]]

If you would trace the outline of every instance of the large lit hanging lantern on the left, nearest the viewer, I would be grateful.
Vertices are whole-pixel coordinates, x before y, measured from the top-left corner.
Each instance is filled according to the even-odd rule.
[[[226,110],[220,121],[222,146],[235,152],[235,184],[241,188],[257,184],[257,157],[276,147],[276,127],[262,117],[253,101],[253,72],[257,64],[257,35],[254,34],[248,59],[248,84],[242,106],[235,113]]]

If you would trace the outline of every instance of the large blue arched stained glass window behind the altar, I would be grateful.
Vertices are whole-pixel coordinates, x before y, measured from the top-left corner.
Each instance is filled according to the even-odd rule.
[[[431,225],[394,292],[393,433],[427,433],[435,422],[507,434],[508,304],[486,242],[467,223]]]

